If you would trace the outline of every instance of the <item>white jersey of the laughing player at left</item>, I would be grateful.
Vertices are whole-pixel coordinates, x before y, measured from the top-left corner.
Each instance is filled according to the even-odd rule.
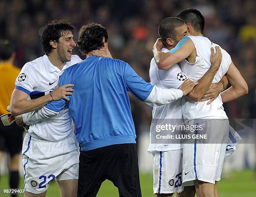
[[[72,55],[71,61],[66,62],[62,70],[52,65],[47,55],[26,63],[20,71],[15,82],[15,89],[21,90],[29,95],[28,99],[49,94],[59,81],[61,73],[69,66],[81,62],[78,55]],[[27,113],[25,116],[33,114]],[[27,124],[28,122],[25,122]],[[31,122],[30,122],[31,124]],[[57,142],[70,137],[74,132],[74,124],[69,116],[69,109],[64,108],[58,115],[50,117],[36,124],[31,124],[28,132],[45,140]]]

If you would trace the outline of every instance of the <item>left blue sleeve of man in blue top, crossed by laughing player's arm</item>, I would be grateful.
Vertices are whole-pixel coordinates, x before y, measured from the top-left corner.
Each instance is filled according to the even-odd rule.
[[[62,75],[59,78],[59,86],[65,85],[72,83],[72,79],[69,77],[69,73],[67,72],[67,69],[62,73]],[[73,88],[73,87],[69,87]],[[71,99],[70,95],[67,95],[69,99]],[[66,100],[61,99],[61,100],[56,100],[49,102],[45,107],[47,107],[49,110],[53,112],[59,112],[61,109],[63,109],[66,105]]]

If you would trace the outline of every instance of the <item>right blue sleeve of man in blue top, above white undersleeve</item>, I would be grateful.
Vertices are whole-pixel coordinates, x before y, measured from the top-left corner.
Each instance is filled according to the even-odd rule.
[[[146,100],[154,87],[139,77],[127,63],[125,63],[124,80],[127,90],[141,101]]]

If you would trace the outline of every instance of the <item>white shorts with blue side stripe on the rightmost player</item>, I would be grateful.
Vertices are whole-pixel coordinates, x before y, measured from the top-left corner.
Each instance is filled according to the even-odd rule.
[[[220,180],[226,145],[228,141],[229,121],[208,120],[197,123],[203,130],[197,134],[210,134],[215,132],[218,144],[193,143],[183,144],[182,180],[183,182],[200,180],[215,184]]]

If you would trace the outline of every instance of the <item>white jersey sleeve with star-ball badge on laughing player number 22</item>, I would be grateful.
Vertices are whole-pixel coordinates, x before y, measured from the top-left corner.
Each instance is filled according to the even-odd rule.
[[[30,63],[26,63],[15,81],[15,89],[30,95],[36,87],[36,82],[38,82],[38,78],[35,68]]]

